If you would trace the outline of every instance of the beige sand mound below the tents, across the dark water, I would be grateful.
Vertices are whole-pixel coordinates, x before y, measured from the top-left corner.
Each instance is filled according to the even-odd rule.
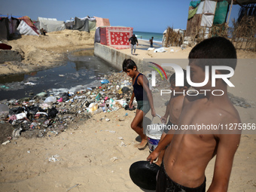
[[[22,35],[21,38],[6,42],[12,50],[23,57],[22,63],[5,62],[0,66],[0,75],[31,72],[38,69],[59,66],[65,54],[72,50],[82,50],[94,46],[95,32],[63,30],[47,35]],[[22,68],[17,66],[22,65]]]

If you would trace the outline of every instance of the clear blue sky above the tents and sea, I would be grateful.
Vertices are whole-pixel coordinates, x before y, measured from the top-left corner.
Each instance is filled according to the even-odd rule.
[[[164,32],[170,26],[186,29],[191,0],[0,0],[0,14],[70,20],[75,17],[108,18],[111,26],[129,26],[139,32]],[[233,5],[231,18],[237,18],[239,5]],[[231,23],[231,22],[230,22]]]

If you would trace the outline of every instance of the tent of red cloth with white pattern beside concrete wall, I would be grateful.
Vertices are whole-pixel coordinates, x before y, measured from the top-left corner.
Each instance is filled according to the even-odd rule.
[[[130,48],[129,38],[133,35],[133,27],[106,26],[100,28],[100,43],[115,49]]]

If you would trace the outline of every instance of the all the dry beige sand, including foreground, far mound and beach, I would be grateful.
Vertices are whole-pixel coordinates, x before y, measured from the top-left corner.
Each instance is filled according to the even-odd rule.
[[[23,36],[21,39],[8,41],[8,44],[14,49],[23,50],[25,61],[21,65],[26,65],[28,69],[24,71],[29,71],[37,65],[43,68],[54,66],[57,61],[61,61],[62,53],[67,50],[93,46],[93,36],[94,34],[81,35],[81,32],[66,30],[50,33],[48,36]],[[149,47],[147,41],[139,40],[139,44]],[[171,53],[170,49],[175,52]],[[130,49],[120,51],[130,54]],[[166,53],[136,50],[140,58],[178,59],[186,59],[189,51],[190,47],[185,50],[171,47]],[[256,58],[255,53],[245,51],[238,51],[238,57]],[[11,63],[1,65],[2,75],[23,70],[23,66],[17,70],[9,65]],[[256,102],[255,69],[253,61],[239,64],[231,78],[236,88],[229,90],[234,96],[244,98],[253,106]],[[236,109],[242,123],[256,123],[254,107]],[[163,115],[165,108],[156,106],[156,110],[157,114]],[[87,122],[73,124],[59,136],[20,138],[11,140],[8,145],[1,145],[0,191],[143,191],[133,184],[129,175],[130,165],[138,160],[145,160],[149,154],[148,148],[139,151],[134,147],[139,143],[136,133],[130,128],[134,112],[121,108],[118,111],[100,113]],[[110,121],[102,117],[109,118]],[[229,191],[256,190],[255,148],[256,135],[242,135],[233,162]],[[214,159],[206,169],[206,187],[212,181],[213,167]]]

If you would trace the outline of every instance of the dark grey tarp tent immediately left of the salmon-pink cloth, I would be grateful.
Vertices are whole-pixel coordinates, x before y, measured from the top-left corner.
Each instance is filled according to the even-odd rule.
[[[75,24],[73,26],[74,30],[79,31],[95,31],[96,30],[96,19],[90,17],[78,18],[75,17]]]

